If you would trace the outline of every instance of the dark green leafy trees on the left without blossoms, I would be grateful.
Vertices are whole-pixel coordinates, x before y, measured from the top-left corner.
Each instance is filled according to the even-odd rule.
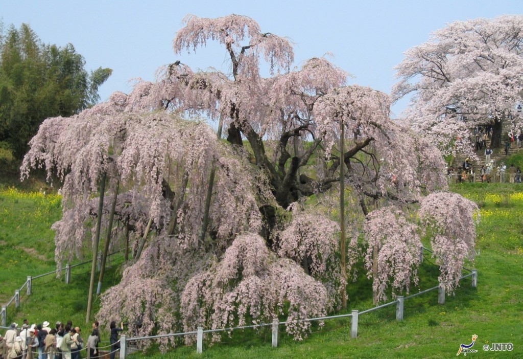
[[[44,119],[96,104],[111,73],[101,67],[88,73],[71,43],[46,44],[27,24],[0,23],[0,161],[21,159]]]

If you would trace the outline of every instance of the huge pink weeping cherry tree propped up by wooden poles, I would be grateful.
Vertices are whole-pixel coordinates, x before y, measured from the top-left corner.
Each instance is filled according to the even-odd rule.
[[[310,326],[300,319],[338,309],[347,282],[330,200],[340,165],[358,205],[348,216],[349,265],[361,255],[358,233],[367,232],[363,246],[392,253],[371,274],[375,285],[384,290],[384,278],[392,277],[394,289],[408,289],[416,277],[408,255],[417,237],[379,238],[382,216],[372,209],[388,207],[383,213],[391,229],[414,233],[414,222],[392,218],[446,189],[441,153],[390,120],[388,95],[347,85],[347,73],[326,59],[291,69],[291,42],[261,32],[254,20],[188,16],[185,24],[175,52],[218,41],[230,73],[194,72],[179,61],[162,66],[157,81],[138,82],[128,95],[115,93],[71,118],[47,119],[22,165],[22,177],[44,166],[49,178],[63,181],[64,217],[54,226],[58,262],[92,243],[94,217],[108,226],[111,201],[118,221],[109,230],[133,232],[137,254],[103,295],[98,317],[128,321],[132,333],[144,335],[279,316],[295,339],[304,338]],[[269,77],[260,73],[261,60]],[[104,210],[96,212],[93,197],[104,181],[112,186]],[[462,223],[474,233],[473,222]],[[449,229],[442,228],[445,235]],[[120,236],[113,245],[122,242]],[[407,255],[396,260],[393,254],[405,248]],[[367,258],[370,266],[377,260]],[[442,261],[457,268],[453,257]]]

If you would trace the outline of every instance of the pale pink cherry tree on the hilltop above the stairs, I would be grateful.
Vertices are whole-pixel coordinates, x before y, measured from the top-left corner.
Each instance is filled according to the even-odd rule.
[[[476,126],[492,126],[492,147],[507,137],[503,118],[521,129],[523,16],[456,21],[404,55],[393,97],[412,96],[405,119],[445,153],[471,153]]]

